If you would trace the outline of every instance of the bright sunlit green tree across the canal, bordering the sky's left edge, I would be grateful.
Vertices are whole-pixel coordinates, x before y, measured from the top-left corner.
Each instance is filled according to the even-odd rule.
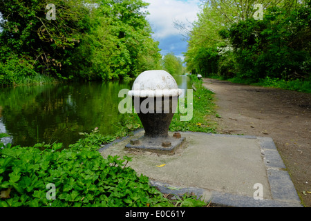
[[[105,80],[136,77],[158,67],[160,50],[145,19],[147,3],[100,2],[100,7],[93,8],[91,30],[75,49],[68,71],[74,70],[83,79]]]

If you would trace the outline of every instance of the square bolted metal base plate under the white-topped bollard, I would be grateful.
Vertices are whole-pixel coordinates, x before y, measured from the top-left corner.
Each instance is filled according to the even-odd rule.
[[[186,143],[185,137],[140,137],[131,140],[126,144],[126,151],[149,151],[166,155],[173,155],[180,148],[183,148]]]

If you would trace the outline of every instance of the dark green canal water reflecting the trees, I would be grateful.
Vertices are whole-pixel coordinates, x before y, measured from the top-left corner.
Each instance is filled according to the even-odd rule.
[[[173,76],[178,88],[191,88],[189,77]],[[0,133],[5,144],[33,146],[38,142],[64,146],[75,143],[79,132],[113,135],[123,124],[118,111],[120,90],[133,81],[43,84],[0,88]]]

